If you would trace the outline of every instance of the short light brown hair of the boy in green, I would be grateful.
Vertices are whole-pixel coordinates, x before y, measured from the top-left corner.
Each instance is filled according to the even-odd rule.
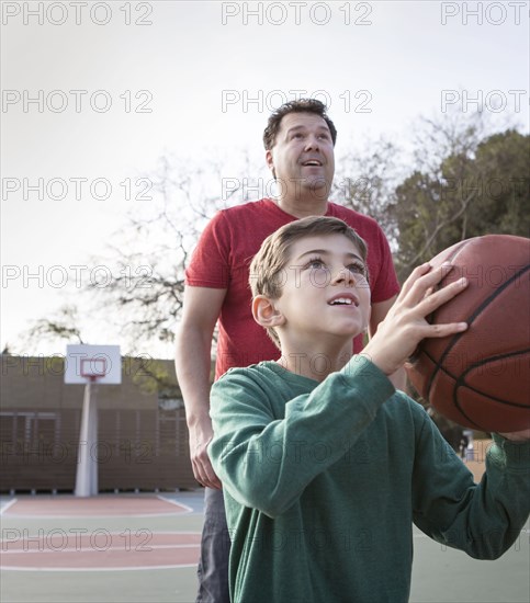
[[[302,218],[279,228],[267,237],[261,243],[260,250],[250,263],[249,284],[252,297],[264,295],[269,299],[278,299],[282,294],[282,273],[289,262],[293,243],[300,239],[315,235],[343,235],[359,250],[362,261],[367,262],[368,247],[351,226],[339,218],[325,216],[311,216]],[[368,280],[368,273],[367,273]],[[273,328],[267,329],[267,334],[272,339],[277,348],[280,348],[280,339]]]

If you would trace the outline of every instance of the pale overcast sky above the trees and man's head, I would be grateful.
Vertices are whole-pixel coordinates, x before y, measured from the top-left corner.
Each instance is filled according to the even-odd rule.
[[[259,162],[269,113],[296,95],[327,102],[338,156],[380,134],[405,141],[419,115],[449,109],[481,105],[528,132],[528,10],[487,1],[3,2],[2,348],[67,295],[83,307],[71,297],[76,283],[57,286],[53,266],[93,268],[90,257],[143,193],[136,180],[162,155],[192,166],[246,149]],[[106,322],[84,316],[86,338],[120,343]],[[170,346],[146,351],[172,355]]]

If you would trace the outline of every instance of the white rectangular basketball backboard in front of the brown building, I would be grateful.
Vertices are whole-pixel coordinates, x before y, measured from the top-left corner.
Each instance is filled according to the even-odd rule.
[[[67,345],[65,383],[98,385],[122,383],[120,345]]]

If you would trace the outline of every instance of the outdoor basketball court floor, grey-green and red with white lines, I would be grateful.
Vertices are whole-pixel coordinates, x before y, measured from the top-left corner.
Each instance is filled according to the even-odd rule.
[[[201,490],[1,502],[2,603],[194,601]],[[476,561],[415,530],[410,602],[528,603],[529,534],[501,559]]]

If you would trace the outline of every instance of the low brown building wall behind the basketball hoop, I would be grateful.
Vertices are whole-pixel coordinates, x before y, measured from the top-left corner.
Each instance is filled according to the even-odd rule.
[[[84,386],[64,384],[58,357],[1,361],[0,490],[74,491]],[[163,391],[129,359],[123,361],[122,385],[92,387],[98,445],[90,454],[100,491],[198,486],[172,363],[150,362],[172,382]]]

